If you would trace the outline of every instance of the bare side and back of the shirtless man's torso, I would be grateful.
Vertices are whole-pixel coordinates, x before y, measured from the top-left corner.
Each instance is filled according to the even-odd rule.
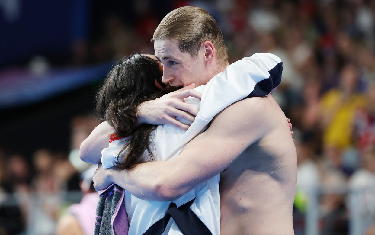
[[[296,148],[275,99],[251,99],[272,117],[261,124],[272,131],[220,173],[220,234],[293,234]]]

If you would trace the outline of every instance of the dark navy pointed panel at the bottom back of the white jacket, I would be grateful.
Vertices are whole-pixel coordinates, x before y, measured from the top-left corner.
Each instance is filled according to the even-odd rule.
[[[181,205],[180,207],[177,207],[176,203],[173,202],[169,204],[169,208],[166,210],[164,218],[156,221],[156,223],[149,227],[143,235],[161,235],[165,231],[165,227],[171,217],[184,235],[212,235],[210,230],[190,209],[194,200],[195,199]]]

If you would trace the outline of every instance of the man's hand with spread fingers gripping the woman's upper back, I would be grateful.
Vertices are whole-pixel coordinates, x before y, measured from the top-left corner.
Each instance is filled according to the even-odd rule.
[[[195,84],[183,87],[180,90],[163,95],[160,98],[143,102],[138,107],[138,124],[171,124],[183,130],[187,130],[186,125],[176,119],[180,117],[193,122],[198,109],[191,104],[184,103],[184,99],[191,96],[201,99],[202,94],[193,90]]]

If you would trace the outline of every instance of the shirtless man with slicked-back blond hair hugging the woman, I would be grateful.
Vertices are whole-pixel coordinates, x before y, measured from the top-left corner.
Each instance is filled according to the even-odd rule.
[[[189,25],[192,21],[199,25],[210,17],[201,8],[185,7],[172,11],[160,23],[154,48],[164,65],[164,83],[201,85],[225,70],[228,57],[221,32],[221,38],[208,40],[194,35],[195,28]],[[216,28],[209,30],[217,33]],[[188,42],[194,39],[198,41],[196,50],[191,49],[194,43]],[[191,91],[183,92],[141,105],[139,121],[162,124],[169,120],[169,124],[186,128],[175,116],[191,118],[184,111],[193,116],[196,111],[183,105],[183,96]],[[293,234],[296,149],[285,119],[271,95],[238,101],[220,112],[208,130],[190,141],[178,157],[142,163],[127,171],[99,167],[95,187],[115,182],[141,199],[169,201],[221,172],[220,234]],[[103,136],[109,132],[104,131]]]

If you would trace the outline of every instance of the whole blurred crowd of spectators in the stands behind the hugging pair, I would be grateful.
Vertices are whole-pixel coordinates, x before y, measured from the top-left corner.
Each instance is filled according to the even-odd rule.
[[[184,5],[214,16],[230,63],[258,52],[283,61],[274,97],[291,119],[296,139],[296,234],[305,232],[304,214],[316,192],[321,234],[348,234],[354,209],[360,234],[374,234],[375,2],[181,0],[169,8]],[[163,15],[153,11],[150,0],[136,1],[134,8],[136,24],[108,16],[101,36],[74,44],[69,63],[83,66],[133,52],[153,53],[150,39]],[[61,195],[79,190],[79,173],[88,167],[78,160],[79,145],[97,124],[95,117],[72,120],[70,153],[40,149],[28,162],[26,156],[0,151],[0,234],[26,227],[34,234],[53,234],[65,206]],[[19,206],[1,206],[3,195],[15,192]],[[30,205],[33,193],[39,206]],[[30,206],[39,209],[30,213]]]

